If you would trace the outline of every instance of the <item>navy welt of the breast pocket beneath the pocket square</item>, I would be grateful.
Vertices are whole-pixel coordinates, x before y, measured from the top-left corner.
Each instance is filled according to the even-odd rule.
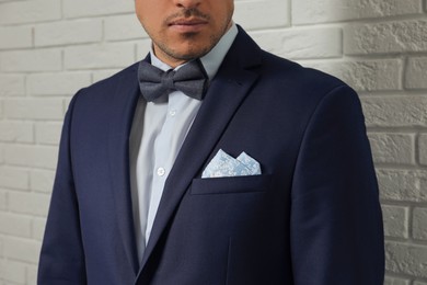
[[[194,179],[189,193],[192,195],[208,195],[265,192],[268,190],[270,181],[270,174]]]

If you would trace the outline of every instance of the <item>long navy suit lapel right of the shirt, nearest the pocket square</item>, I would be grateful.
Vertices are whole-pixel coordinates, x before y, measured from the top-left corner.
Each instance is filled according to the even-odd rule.
[[[245,50],[242,55],[242,50]],[[140,274],[192,180],[198,175],[239,105],[258,75],[259,48],[240,30],[180,150],[165,182],[163,195],[141,263]]]

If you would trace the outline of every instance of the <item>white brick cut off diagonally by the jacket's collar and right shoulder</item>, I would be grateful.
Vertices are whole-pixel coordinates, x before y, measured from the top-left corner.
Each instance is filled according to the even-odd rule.
[[[289,59],[332,58],[343,55],[338,27],[287,29],[251,33],[264,49]]]

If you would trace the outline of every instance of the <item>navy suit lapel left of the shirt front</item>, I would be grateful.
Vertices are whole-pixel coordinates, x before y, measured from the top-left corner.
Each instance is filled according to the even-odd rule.
[[[134,230],[129,171],[129,134],[139,98],[137,65],[125,70],[109,104],[108,158],[115,214],[123,246],[135,274],[139,262]]]

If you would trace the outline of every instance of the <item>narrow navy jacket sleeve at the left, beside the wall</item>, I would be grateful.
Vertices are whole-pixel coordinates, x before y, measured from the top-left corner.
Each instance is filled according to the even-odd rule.
[[[38,285],[86,284],[70,149],[70,130],[77,96],[71,101],[64,122],[57,172],[39,258]]]

